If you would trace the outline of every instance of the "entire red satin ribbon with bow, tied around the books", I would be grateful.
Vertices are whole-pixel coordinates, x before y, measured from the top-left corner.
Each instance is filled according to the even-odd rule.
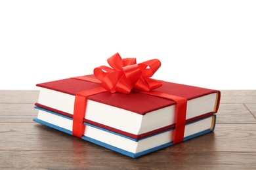
[[[186,124],[187,99],[168,93],[150,91],[159,88],[162,85],[160,81],[150,78],[161,66],[160,61],[158,59],[151,59],[136,64],[135,58],[121,59],[117,53],[111,58],[108,58],[108,63],[112,68],[103,65],[96,67],[94,70],[96,78],[100,81],[89,76],[74,77],[76,79],[86,80],[89,82],[101,82],[102,88],[85,90],[75,95],[72,135],[81,138],[85,133],[83,118],[85,118],[86,113],[87,96],[106,92],[107,90],[111,93],[130,93],[131,90],[135,90],[139,93],[156,95],[158,97],[171,99],[177,102],[175,107],[176,125],[173,135],[173,144],[181,143],[184,138],[184,129]]]

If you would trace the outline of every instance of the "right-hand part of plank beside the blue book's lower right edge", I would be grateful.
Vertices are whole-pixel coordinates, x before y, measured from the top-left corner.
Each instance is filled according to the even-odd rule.
[[[256,124],[216,124],[215,131],[181,143],[182,151],[255,152]],[[173,150],[181,150],[179,146]]]

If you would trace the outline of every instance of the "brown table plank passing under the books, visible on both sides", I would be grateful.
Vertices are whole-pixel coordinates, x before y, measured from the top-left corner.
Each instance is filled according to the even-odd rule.
[[[169,147],[165,152],[256,152],[256,124],[217,124],[215,133]],[[37,123],[0,123],[0,150],[80,150],[95,146]],[[91,149],[93,153],[93,148]],[[104,150],[104,149],[103,149]]]

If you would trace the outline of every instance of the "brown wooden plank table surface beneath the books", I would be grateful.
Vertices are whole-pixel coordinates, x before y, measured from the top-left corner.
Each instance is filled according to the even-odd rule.
[[[0,169],[256,169],[256,90],[223,90],[214,133],[133,159],[32,121],[38,91],[0,91]]]

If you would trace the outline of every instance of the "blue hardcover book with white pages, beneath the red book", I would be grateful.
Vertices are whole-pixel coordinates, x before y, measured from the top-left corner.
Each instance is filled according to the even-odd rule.
[[[35,107],[35,109],[39,110],[37,118],[33,119],[35,122],[72,135],[72,118],[40,107]],[[184,131],[184,141],[213,131],[215,120],[216,116],[213,114],[187,123]],[[173,144],[174,128],[134,139],[93,124],[86,122],[83,124],[85,124],[85,133],[82,139],[131,158],[137,158]]]

